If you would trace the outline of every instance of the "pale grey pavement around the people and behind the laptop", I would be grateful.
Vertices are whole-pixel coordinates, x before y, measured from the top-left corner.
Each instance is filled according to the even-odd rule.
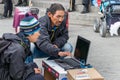
[[[12,24],[12,18],[0,20],[0,36],[5,32],[15,33]],[[120,79],[119,36],[111,37],[108,34],[107,37],[102,38],[99,33],[93,31],[92,26],[80,25],[70,25],[69,35],[69,42],[72,43],[73,47],[75,46],[77,35],[83,36],[91,41],[87,63],[96,68],[105,77],[105,80]]]

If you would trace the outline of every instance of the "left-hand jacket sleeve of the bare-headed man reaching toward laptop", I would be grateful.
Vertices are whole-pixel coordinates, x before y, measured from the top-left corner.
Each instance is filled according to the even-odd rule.
[[[50,41],[50,36],[49,36],[47,28],[46,28],[46,26],[47,26],[46,20],[41,19],[41,20],[39,20],[39,22],[40,22],[40,27],[41,27],[41,31],[40,31],[41,36],[38,38],[38,40],[36,42],[37,47],[40,50],[42,50],[43,52],[45,52],[51,56],[58,57],[58,52],[60,51],[60,49],[55,48]]]

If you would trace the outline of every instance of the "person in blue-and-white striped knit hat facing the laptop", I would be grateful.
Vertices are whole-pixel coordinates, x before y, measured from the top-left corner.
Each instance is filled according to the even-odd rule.
[[[39,22],[33,16],[26,16],[20,21],[20,32],[5,33],[3,38],[12,43],[0,57],[4,67],[0,67],[0,80],[44,80],[35,63],[25,63],[31,55],[30,42],[40,36]]]

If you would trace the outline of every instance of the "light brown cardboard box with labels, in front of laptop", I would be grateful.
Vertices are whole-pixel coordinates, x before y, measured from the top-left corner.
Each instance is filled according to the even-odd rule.
[[[67,78],[68,80],[104,80],[95,68],[68,70]]]

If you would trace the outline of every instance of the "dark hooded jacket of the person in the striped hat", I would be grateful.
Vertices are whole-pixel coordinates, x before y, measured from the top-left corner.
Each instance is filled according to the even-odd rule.
[[[4,34],[3,38],[11,40],[12,43],[4,51],[1,58],[1,62],[4,63],[5,67],[0,70],[0,80],[25,80],[28,76],[34,74],[31,65],[24,63],[30,52],[25,52],[25,48],[18,43],[22,39],[12,33]]]

